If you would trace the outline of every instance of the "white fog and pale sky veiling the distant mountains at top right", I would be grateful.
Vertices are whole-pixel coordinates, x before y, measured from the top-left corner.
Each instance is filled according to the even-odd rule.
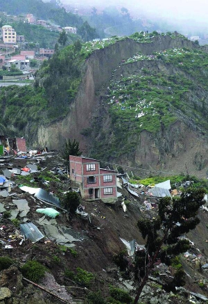
[[[90,6],[96,7],[98,10],[103,10],[107,6],[125,7],[128,8],[133,19],[138,17],[150,18],[153,21],[159,19],[160,22],[168,22],[173,29],[183,34],[199,35],[198,31],[203,35],[208,34],[208,2],[206,0],[112,0],[110,2],[106,0],[58,0],[58,2],[74,8]]]

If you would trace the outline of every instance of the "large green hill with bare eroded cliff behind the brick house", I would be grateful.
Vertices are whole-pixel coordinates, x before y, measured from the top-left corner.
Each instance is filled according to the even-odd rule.
[[[33,146],[76,138],[85,154],[137,175],[206,177],[207,66],[207,47],[178,33],[76,42],[44,64],[33,88],[1,89],[2,130],[21,129]]]

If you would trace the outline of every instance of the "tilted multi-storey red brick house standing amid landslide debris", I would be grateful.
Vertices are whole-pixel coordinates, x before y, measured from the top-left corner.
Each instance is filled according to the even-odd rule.
[[[80,184],[83,198],[117,198],[116,171],[100,168],[100,161],[69,155],[71,180]]]

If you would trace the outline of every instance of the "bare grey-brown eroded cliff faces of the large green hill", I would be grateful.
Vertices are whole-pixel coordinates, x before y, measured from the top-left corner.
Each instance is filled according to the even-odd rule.
[[[136,63],[131,67],[130,65],[119,67],[119,63],[123,59],[132,57],[138,51],[141,54],[150,55],[154,51],[174,47],[192,49],[198,46],[182,38],[172,39],[168,36],[157,36],[148,43],[137,43],[127,38],[104,49],[94,51],[85,62],[83,80],[76,99],[69,109],[69,114],[60,122],[49,126],[41,125],[38,128],[35,144],[59,149],[66,138],[76,138],[83,154],[92,154],[92,145],[96,138],[101,140],[101,136],[92,131],[92,136],[86,138],[80,132],[92,127],[92,121],[95,118],[101,131],[102,128],[110,127],[111,121],[107,111],[102,107],[101,96],[109,85],[112,72],[116,70],[114,78],[117,79],[119,74],[137,72],[144,65],[152,68],[149,63]],[[174,67],[168,67],[162,63],[153,63],[153,65],[161,72],[164,71],[168,74],[177,72]],[[111,135],[109,134],[109,136]],[[116,135],[113,134],[113,136]],[[194,130],[191,123],[182,122],[182,117],[179,117],[178,121],[168,129],[162,127],[157,136],[146,130],[141,131],[141,134],[138,134],[135,151],[130,156],[124,154],[119,159],[119,163],[122,161],[125,163],[124,159],[129,159],[128,165],[134,164],[153,169],[164,168],[177,172],[184,172],[185,164],[189,163],[191,171],[196,173],[200,170],[200,173],[204,175],[207,166],[206,149],[207,141],[200,135],[200,132]]]

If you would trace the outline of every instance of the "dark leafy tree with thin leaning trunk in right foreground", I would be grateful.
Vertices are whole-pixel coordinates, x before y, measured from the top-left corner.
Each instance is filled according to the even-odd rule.
[[[134,304],[137,304],[142,289],[157,259],[170,264],[171,258],[184,253],[191,246],[189,240],[180,239],[182,234],[193,230],[200,220],[198,209],[203,205],[205,189],[189,188],[177,198],[162,198],[159,202],[157,218],[139,219],[137,226],[143,239],[146,239],[146,253],[138,255],[136,266],[139,269],[139,280],[143,278],[137,289]],[[182,269],[175,273],[172,289],[184,284]]]

